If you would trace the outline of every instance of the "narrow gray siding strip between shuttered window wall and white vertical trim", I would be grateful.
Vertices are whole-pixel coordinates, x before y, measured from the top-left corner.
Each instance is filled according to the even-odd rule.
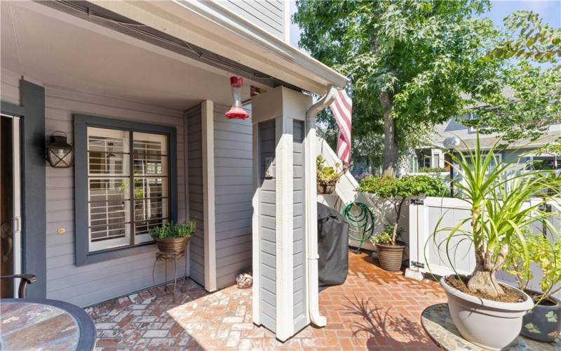
[[[203,211],[203,124],[201,105],[185,112],[187,121],[187,174],[189,178],[189,218],[196,231],[189,244],[189,277],[205,286],[205,244]]]

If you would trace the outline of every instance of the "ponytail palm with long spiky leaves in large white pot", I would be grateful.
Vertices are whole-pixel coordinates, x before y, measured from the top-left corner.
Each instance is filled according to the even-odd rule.
[[[559,194],[561,187],[559,178],[551,171],[520,169],[523,166],[519,160],[524,154],[515,157],[513,152],[501,163],[500,138],[485,151],[480,147],[479,134],[475,141],[475,150],[462,142],[465,151],[446,151],[455,171],[463,178],[463,181],[454,179],[454,187],[469,204],[471,215],[454,227],[443,229],[439,229],[440,218],[433,240],[439,251],[445,247],[445,259],[451,267],[454,267],[453,243],[468,240],[473,244],[473,273],[468,277],[458,274],[442,277],[440,284],[461,336],[481,347],[499,350],[518,336],[522,318],[534,303],[520,289],[497,282],[496,272],[503,267],[515,239],[522,242],[522,269],[529,271],[531,260],[521,228],[536,221],[548,221],[552,214],[538,205],[529,205],[528,201],[538,195],[544,201],[551,199],[551,194]],[[445,239],[436,242],[437,234],[442,232]]]

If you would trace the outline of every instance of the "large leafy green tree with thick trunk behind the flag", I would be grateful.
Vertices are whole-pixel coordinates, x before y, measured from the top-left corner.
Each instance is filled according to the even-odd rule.
[[[353,138],[384,133],[384,173],[419,131],[457,116],[466,101],[499,90],[501,60],[483,60],[499,33],[478,18],[481,0],[297,0],[299,45],[353,72]],[[353,70],[354,69],[354,70]]]

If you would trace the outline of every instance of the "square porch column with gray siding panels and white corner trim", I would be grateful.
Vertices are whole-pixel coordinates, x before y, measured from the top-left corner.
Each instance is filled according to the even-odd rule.
[[[310,106],[311,96],[283,86],[252,99],[253,322],[274,331],[279,340],[310,322],[305,235],[309,213],[304,211],[305,121]],[[315,183],[315,173],[313,177]],[[316,218],[311,223],[316,225]],[[317,293],[317,276],[315,282]]]

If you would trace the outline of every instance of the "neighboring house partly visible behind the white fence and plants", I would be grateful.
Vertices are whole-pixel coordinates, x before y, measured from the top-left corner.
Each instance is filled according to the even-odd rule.
[[[467,117],[469,118],[469,117]],[[457,136],[464,140],[465,145],[460,145],[459,150],[469,148],[473,150],[475,147],[476,131],[474,128],[464,126],[455,118],[451,118],[445,124],[435,126],[435,133],[433,135],[433,145],[430,147],[423,147],[414,150],[414,154],[410,158],[408,166],[408,173],[417,173],[422,168],[448,168],[445,161],[445,155],[442,152],[442,145],[446,138]],[[504,152],[501,152],[501,157],[508,157],[508,155],[519,155],[527,153],[527,157],[522,157],[520,161],[531,162],[534,167],[547,168],[547,169],[560,169],[561,156],[555,154],[539,154],[533,153],[533,150],[545,145],[546,143],[553,143],[557,138],[561,138],[561,124],[551,124],[548,132],[535,143],[528,143],[521,141],[510,145]],[[496,134],[480,134],[480,145],[482,148],[491,147],[496,142]],[[527,145],[526,145],[527,144]],[[520,148],[520,146],[525,146]],[[514,149],[517,149],[514,151]],[[511,150],[509,152],[509,150]]]

